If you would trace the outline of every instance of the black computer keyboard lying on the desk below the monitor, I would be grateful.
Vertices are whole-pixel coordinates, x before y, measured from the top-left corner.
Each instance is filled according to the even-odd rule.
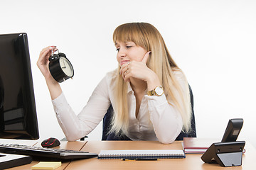
[[[75,151],[69,149],[55,149],[46,147],[32,147],[28,145],[1,144],[0,152],[6,154],[22,154],[31,157],[49,158],[50,160],[86,159],[97,157],[97,154],[90,152]]]

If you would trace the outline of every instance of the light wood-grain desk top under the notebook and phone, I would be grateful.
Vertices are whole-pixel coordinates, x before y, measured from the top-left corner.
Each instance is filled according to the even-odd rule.
[[[84,145],[86,143],[86,145]],[[88,142],[61,142],[63,149],[78,149],[99,154],[101,149],[182,149],[181,142],[176,141],[170,145],[163,145],[156,141],[88,141]],[[76,170],[76,169],[132,169],[132,170],[150,170],[150,169],[178,169],[178,170],[237,170],[237,169],[255,169],[256,150],[249,142],[245,144],[246,152],[242,156],[242,166],[222,167],[218,164],[205,164],[201,160],[201,154],[186,154],[185,159],[158,159],[158,161],[128,161],[124,162],[120,159],[82,159],[63,164],[56,170]],[[36,162],[37,163],[37,162]],[[31,169],[33,164],[18,166],[12,170]]]

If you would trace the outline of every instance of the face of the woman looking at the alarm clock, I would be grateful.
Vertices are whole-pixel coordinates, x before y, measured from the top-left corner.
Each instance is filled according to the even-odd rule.
[[[120,67],[127,62],[137,61],[141,62],[146,50],[143,47],[135,45],[134,42],[119,42],[117,41],[115,46],[117,47],[117,62]]]

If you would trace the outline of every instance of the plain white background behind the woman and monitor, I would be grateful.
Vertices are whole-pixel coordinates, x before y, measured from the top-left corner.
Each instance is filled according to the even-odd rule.
[[[40,140],[64,137],[36,67],[43,47],[57,45],[72,62],[75,77],[61,86],[79,113],[102,77],[117,67],[114,28],[139,21],[158,28],[186,73],[198,137],[221,138],[230,118],[243,118],[239,140],[256,147],[255,0],[1,0],[0,8],[0,34],[28,33]],[[101,127],[88,140],[101,140]]]

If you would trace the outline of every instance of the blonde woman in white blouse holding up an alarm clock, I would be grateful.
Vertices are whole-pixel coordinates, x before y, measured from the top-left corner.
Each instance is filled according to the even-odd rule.
[[[174,142],[181,130],[191,129],[188,82],[169,55],[161,34],[149,23],[125,23],[113,34],[118,67],[93,91],[76,115],[48,70],[55,47],[41,51],[38,67],[46,79],[60,127],[69,141],[89,134],[112,104],[110,133],[131,140]]]

